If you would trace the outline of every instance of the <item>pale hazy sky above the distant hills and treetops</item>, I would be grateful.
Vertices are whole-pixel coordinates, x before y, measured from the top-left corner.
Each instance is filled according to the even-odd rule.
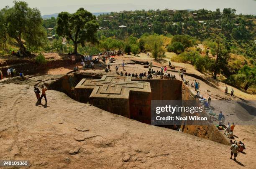
[[[37,7],[42,15],[61,11],[75,12],[84,7],[90,12],[111,12],[141,9],[202,9],[231,7],[237,14],[256,15],[256,0],[23,0],[29,7]],[[13,0],[0,0],[0,8],[12,6]]]

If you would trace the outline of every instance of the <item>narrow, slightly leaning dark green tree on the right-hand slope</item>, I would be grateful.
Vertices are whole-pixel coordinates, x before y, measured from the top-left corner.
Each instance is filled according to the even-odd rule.
[[[220,70],[223,70],[225,66],[228,65],[228,60],[230,59],[230,53],[226,50],[225,46],[217,42],[217,47],[215,48],[216,60],[213,68],[213,78],[217,78],[217,75],[220,74]]]

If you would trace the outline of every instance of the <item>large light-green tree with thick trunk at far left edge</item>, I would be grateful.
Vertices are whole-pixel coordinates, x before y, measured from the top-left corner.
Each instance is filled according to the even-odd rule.
[[[46,38],[46,32],[42,26],[41,13],[36,8],[28,7],[23,1],[13,1],[13,7],[5,7],[1,10],[0,29],[2,37],[11,37],[18,42],[20,52],[28,55],[26,47],[39,47]],[[1,26],[2,26],[1,25]],[[3,36],[4,35],[4,36]],[[24,43],[26,42],[26,46]]]

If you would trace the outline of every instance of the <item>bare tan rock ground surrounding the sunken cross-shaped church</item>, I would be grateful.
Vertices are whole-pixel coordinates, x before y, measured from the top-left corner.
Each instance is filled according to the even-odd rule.
[[[122,62],[128,73],[148,71],[135,64],[135,60],[150,58],[116,57],[112,72],[107,74],[116,75],[115,65],[120,72]],[[168,62],[153,62],[153,65],[168,65]],[[186,65],[180,65],[183,66]],[[255,168],[256,125],[235,127],[236,140],[243,141],[246,150],[238,154],[238,161],[233,161],[229,159],[227,145],[105,112],[55,90],[46,91],[48,104],[44,100],[43,104],[36,104],[33,85],[59,78],[59,74],[66,74],[73,67],[51,69],[47,72],[51,76],[27,81],[16,78],[0,82],[0,159],[29,160],[31,168]],[[207,79],[207,75],[187,67],[187,72]],[[86,72],[106,74],[102,67]],[[180,79],[177,72],[171,74]],[[222,88],[225,84],[221,82],[187,75],[184,78],[199,81],[200,92],[206,98],[211,95],[213,100],[255,99],[255,95],[238,89],[236,97],[225,95]],[[224,114],[230,113],[227,107],[223,109]]]

